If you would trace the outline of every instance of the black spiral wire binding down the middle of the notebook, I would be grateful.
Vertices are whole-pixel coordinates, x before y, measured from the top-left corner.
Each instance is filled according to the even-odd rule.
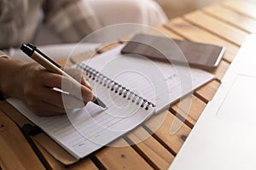
[[[96,71],[90,66],[85,65],[84,63],[79,63],[77,65],[77,68],[84,70],[86,72],[86,76],[91,80],[102,84],[103,87],[110,88],[110,90],[114,91],[114,93],[116,94],[123,95],[123,97],[127,100],[131,100],[132,103],[136,103],[136,105],[139,105],[142,102],[141,107],[144,107],[146,105],[145,110],[148,110],[150,105],[152,107],[155,107],[155,105],[149,102],[147,99],[143,99],[143,97],[135,94],[130,89],[123,87],[118,82],[114,82],[113,80],[104,76],[102,73]]]

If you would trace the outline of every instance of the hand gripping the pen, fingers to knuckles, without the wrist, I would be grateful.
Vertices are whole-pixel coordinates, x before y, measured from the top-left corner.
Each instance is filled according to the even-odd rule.
[[[83,107],[93,98],[86,76],[83,71],[77,69],[67,73],[78,82],[46,71],[36,63],[25,65],[20,72],[20,80],[23,80],[20,81],[20,99],[40,116],[60,115],[66,112],[65,109]],[[57,92],[53,88],[60,88],[71,95]]]

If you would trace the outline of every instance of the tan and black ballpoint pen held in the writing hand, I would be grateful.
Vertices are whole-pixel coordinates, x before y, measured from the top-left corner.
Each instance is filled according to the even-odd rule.
[[[65,77],[69,77],[71,80],[77,82],[73,77],[69,76],[65,71],[61,70],[61,66],[56,64],[54,60],[50,59],[47,55],[43,54],[37,47],[32,44],[23,44],[20,49],[27,54],[29,57],[38,62],[38,64],[44,66],[47,71],[54,72]],[[93,94],[93,99],[91,100],[96,105],[100,105],[102,108],[106,108],[106,105],[101,99],[98,99],[95,94]]]

